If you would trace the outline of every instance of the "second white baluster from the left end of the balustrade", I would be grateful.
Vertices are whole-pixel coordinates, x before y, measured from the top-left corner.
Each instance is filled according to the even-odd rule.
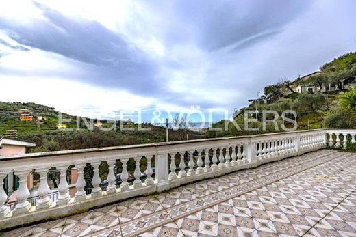
[[[29,208],[31,208],[31,204],[27,201],[27,197],[29,197],[29,189],[27,188],[27,175],[29,171],[15,171],[15,175],[18,176],[19,179],[19,187],[16,194],[16,200],[18,201],[16,207],[12,214],[14,216],[27,212]]]

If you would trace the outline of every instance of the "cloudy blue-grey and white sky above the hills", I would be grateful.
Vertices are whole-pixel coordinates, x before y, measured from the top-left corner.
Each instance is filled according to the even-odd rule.
[[[356,1],[1,1],[0,100],[214,120],[356,49]],[[132,115],[134,117],[134,115]]]

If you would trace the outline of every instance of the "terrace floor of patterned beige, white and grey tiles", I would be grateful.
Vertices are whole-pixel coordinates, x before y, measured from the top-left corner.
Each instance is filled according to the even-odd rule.
[[[320,150],[5,236],[356,236],[356,154]]]

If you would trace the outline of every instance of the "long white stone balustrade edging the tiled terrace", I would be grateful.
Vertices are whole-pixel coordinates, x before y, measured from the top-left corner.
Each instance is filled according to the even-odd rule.
[[[271,133],[241,137],[198,139],[144,145],[126,145],[111,148],[91,148],[60,152],[42,152],[0,158],[0,229],[22,225],[41,219],[55,219],[69,214],[84,212],[94,206],[101,206],[120,199],[148,195],[168,190],[205,178],[213,178],[240,169],[257,167],[263,163],[279,161],[290,156],[298,156],[325,148],[327,145],[346,145],[346,136],[355,143],[356,130],[316,129],[288,133]],[[133,159],[135,180],[129,184],[127,162]],[[120,161],[122,180],[116,186],[114,173],[116,161]],[[153,163],[154,161],[154,163]],[[174,161],[174,162],[172,162]],[[143,180],[140,163],[146,163],[146,178]],[[101,190],[99,165],[107,163],[108,186]],[[155,171],[153,172],[153,165]],[[84,190],[84,167],[90,164],[94,169],[91,184],[92,193]],[[75,197],[68,194],[66,170],[75,165],[78,178],[75,183]],[[58,200],[49,198],[47,173],[49,169],[60,171]],[[36,206],[31,206],[27,198],[27,176],[29,172],[40,175]],[[8,173],[19,178],[16,193],[18,203],[14,210],[5,205],[7,195],[3,190],[3,180]],[[154,178],[153,178],[154,174]]]

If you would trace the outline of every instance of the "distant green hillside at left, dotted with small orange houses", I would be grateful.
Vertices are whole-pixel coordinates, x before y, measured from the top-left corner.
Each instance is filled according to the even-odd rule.
[[[20,121],[18,109],[30,109],[33,121]],[[138,124],[125,122],[125,128],[134,128],[133,131],[120,131],[120,121],[116,121],[116,130],[104,132],[97,127],[88,130],[82,118],[77,130],[77,117],[62,113],[67,128],[73,131],[58,130],[58,111],[53,107],[47,107],[35,103],[0,102],[0,135],[5,135],[7,130],[17,130],[18,139],[36,143],[36,148],[29,152],[47,152],[55,150],[74,150],[84,148],[99,148],[116,145],[133,145],[142,143],[162,142],[166,140],[166,128],[154,126],[153,124],[141,124],[142,128],[151,128],[151,131],[138,131]],[[41,115],[46,120],[37,120]],[[84,118],[89,120],[88,118]],[[97,122],[97,120],[94,120]],[[111,128],[112,122],[100,120],[104,128]],[[186,139],[188,133],[190,139],[196,139],[199,133],[188,130],[174,131],[170,129],[169,140],[179,141]]]

